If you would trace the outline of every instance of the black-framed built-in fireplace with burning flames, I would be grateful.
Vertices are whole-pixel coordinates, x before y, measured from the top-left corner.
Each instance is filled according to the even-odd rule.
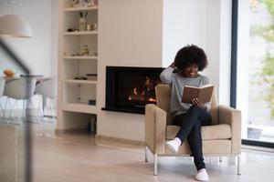
[[[144,114],[144,106],[156,103],[154,87],[162,67],[107,66],[106,105],[102,110]]]

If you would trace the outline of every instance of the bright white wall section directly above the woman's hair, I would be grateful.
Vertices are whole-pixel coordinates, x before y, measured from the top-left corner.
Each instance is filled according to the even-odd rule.
[[[179,49],[194,44],[205,48],[206,0],[163,1],[163,66]]]

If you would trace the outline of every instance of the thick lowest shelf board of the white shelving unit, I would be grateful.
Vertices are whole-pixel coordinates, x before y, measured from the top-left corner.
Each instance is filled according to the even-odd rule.
[[[82,103],[66,103],[62,106],[63,111],[97,114],[97,106],[90,106]]]

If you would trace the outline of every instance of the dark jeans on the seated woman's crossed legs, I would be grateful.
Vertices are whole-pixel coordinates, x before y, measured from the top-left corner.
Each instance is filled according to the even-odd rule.
[[[185,114],[174,116],[173,124],[181,126],[176,137],[180,138],[182,143],[187,137],[197,170],[205,168],[201,126],[211,125],[210,114],[199,106],[191,106]]]

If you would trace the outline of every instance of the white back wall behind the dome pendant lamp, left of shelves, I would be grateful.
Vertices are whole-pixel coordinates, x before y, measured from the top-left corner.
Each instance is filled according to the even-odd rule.
[[[56,0],[0,1],[0,15],[20,15],[32,27],[33,37],[25,39],[6,37],[5,42],[25,61],[34,75],[57,75],[55,67],[57,67],[58,14],[55,5],[58,5]],[[1,68],[10,67],[7,61],[5,60],[5,64],[1,63]]]

